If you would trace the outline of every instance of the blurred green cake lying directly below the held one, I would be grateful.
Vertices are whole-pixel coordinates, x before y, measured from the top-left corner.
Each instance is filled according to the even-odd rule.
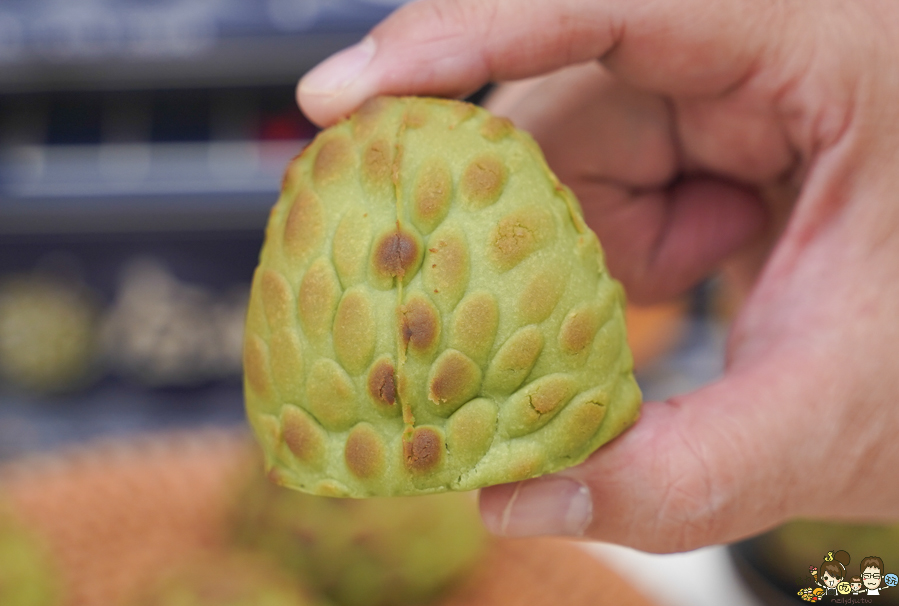
[[[235,507],[236,542],[337,606],[426,602],[485,554],[472,494],[336,499],[258,475]]]

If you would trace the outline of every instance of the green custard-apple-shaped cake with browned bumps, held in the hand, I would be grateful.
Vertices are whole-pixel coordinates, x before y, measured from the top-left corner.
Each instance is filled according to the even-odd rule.
[[[270,475],[367,497],[580,463],[639,414],[623,306],[530,136],[373,99],[293,160],[266,228],[244,373]]]

